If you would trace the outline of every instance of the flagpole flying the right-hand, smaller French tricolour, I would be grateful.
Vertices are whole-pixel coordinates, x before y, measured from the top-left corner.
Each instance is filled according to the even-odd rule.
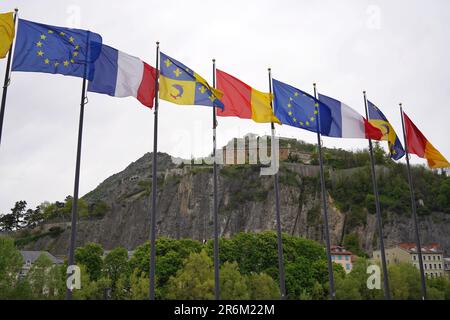
[[[314,98],[317,99],[317,87],[314,86]],[[322,159],[322,142],[320,138],[320,112],[318,113],[317,125],[317,147],[319,151],[319,165],[320,165],[320,184],[322,187],[322,207],[323,207],[323,220],[325,225],[325,244],[327,249],[327,263],[328,263],[328,277],[330,281],[330,299],[334,300],[336,292],[334,290],[334,274],[333,274],[333,262],[331,261],[331,244],[330,244],[330,230],[328,227],[328,213],[327,213],[327,196],[325,190],[325,175],[323,172],[323,159]]]

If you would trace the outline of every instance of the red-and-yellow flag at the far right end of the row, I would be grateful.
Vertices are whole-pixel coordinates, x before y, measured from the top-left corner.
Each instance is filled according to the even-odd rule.
[[[406,143],[408,146],[408,153],[414,153],[421,158],[428,161],[430,168],[447,168],[450,163],[444,156],[425,138],[422,132],[417,129],[416,125],[403,112],[403,119],[405,120]]]

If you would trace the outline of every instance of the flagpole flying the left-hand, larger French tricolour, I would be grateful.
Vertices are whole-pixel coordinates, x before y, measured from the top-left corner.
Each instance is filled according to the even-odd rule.
[[[89,38],[90,32],[87,32],[86,41],[86,61],[84,62],[84,74],[83,74],[83,84],[81,88],[81,103],[80,103],[80,118],[78,124],[78,143],[77,143],[77,160],[75,166],[75,182],[73,188],[73,199],[72,199],[72,221],[71,221],[71,235],[70,235],[70,247],[69,247],[69,267],[75,264],[75,245],[77,236],[77,216],[78,216],[78,191],[80,186],[80,164],[81,164],[81,146],[83,140],[83,121],[84,121],[84,106],[86,104],[86,77],[87,77],[87,64],[89,60]],[[70,275],[67,275],[70,277]],[[66,299],[72,300],[72,290],[67,288]]]

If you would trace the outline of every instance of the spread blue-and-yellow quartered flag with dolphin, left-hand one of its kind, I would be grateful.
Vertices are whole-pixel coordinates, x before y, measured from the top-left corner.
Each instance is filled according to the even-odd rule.
[[[182,105],[215,105],[223,109],[223,93],[181,62],[161,52],[159,97]]]

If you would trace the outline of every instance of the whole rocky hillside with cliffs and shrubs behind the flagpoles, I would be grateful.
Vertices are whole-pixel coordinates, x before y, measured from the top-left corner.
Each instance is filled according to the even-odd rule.
[[[280,167],[283,231],[323,241],[316,147],[294,139],[282,139],[280,146],[290,150]],[[296,154],[307,154],[309,160]],[[378,146],[375,154],[386,243],[413,241],[405,166],[392,162]],[[378,237],[368,153],[325,148],[324,157],[332,242],[370,254],[378,246]],[[133,249],[148,239],[151,162],[152,155],[145,154],[83,197],[86,208],[78,224],[78,245],[93,241],[105,249],[119,245]],[[258,165],[220,166],[221,235],[275,230],[273,178],[260,176],[259,170]],[[414,167],[413,179],[422,241],[439,242],[448,253],[450,178]],[[175,164],[168,154],[158,153],[158,236],[211,238],[212,199],[211,166]],[[46,209],[50,218],[31,236],[26,233],[24,247],[67,252],[70,210],[56,207]],[[58,232],[49,234],[51,228]],[[25,236],[20,233],[18,237]]]

